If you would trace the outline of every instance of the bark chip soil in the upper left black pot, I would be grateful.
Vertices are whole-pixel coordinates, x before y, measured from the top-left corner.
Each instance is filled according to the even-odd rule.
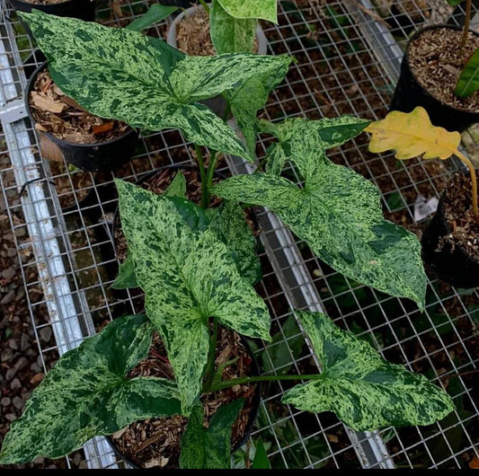
[[[95,144],[121,137],[129,126],[102,119],[81,108],[43,70],[33,84],[29,103],[35,128],[74,144]]]

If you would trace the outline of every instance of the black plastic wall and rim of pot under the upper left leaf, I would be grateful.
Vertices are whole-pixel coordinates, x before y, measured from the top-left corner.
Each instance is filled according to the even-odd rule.
[[[37,75],[40,71],[47,67],[47,62],[42,63],[30,76],[25,92],[25,106],[31,123],[35,123],[35,119],[31,114],[29,106],[29,98]],[[129,162],[135,152],[137,145],[138,132],[134,128],[128,128],[122,136],[116,137],[106,142],[96,142],[93,144],[76,144],[67,142],[48,132],[39,132],[40,147],[45,158],[48,158],[49,150],[59,149],[60,153],[65,157],[67,163],[73,163],[75,167],[89,172],[108,172],[120,168],[124,163]]]

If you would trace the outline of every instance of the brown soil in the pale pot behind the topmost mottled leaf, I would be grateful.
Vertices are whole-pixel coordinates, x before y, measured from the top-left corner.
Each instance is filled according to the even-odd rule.
[[[177,48],[191,56],[211,57],[217,54],[209,36],[209,16],[202,6],[196,13],[184,16],[176,26]],[[258,51],[258,41],[254,40],[254,52]]]

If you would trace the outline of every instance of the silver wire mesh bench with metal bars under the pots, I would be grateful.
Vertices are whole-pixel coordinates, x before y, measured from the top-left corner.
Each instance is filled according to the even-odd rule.
[[[123,27],[154,2],[97,2],[97,21]],[[269,54],[296,58],[286,81],[272,93],[262,117],[320,119],[354,114],[380,119],[394,90],[404,40],[411,29],[435,21],[428,2],[412,1],[408,22],[393,22],[367,0],[279,2],[279,24],[262,22]],[[432,2],[430,2],[432,4]],[[191,145],[174,130],[143,132],[134,158],[113,172],[72,170],[63,160],[42,158],[40,144],[25,116],[22,93],[27,76],[41,58],[15,13],[4,1],[1,40],[3,139],[8,162],[0,173],[4,217],[18,250],[24,300],[47,371],[67,349],[77,346],[115,317],[137,313],[141,295],[115,293],[118,272],[113,225],[117,197],[113,177],[141,180],[167,164],[192,163]],[[445,20],[460,23],[463,12]],[[165,37],[169,22],[148,34]],[[18,116],[18,117],[17,117]],[[467,134],[467,133],[466,133]],[[472,135],[472,134],[471,134]],[[456,163],[409,161],[393,154],[370,154],[359,136],[330,151],[334,163],[347,165],[382,192],[385,216],[421,234],[428,217],[416,219],[418,199],[439,195],[457,170]],[[474,141],[473,141],[474,144]],[[261,159],[269,145],[260,137]],[[221,171],[241,172],[244,164],[227,158]],[[288,171],[298,183],[293,169]],[[429,427],[386,428],[356,433],[333,414],[310,414],[279,403],[285,383],[263,392],[252,439],[265,442],[275,468],[465,468],[477,452],[476,289],[456,289],[430,280],[427,305],[419,313],[410,302],[383,295],[330,269],[292,236],[268,210],[258,210],[262,227],[262,282],[257,290],[271,312],[273,342],[257,348],[264,372],[316,369],[311,349],[292,309],[322,310],[342,328],[368,339],[390,362],[426,375],[448,388],[457,410]],[[28,319],[27,316],[24,316]],[[33,385],[33,383],[32,383]],[[244,467],[242,448],[235,467]],[[67,467],[122,468],[103,438],[94,438]]]

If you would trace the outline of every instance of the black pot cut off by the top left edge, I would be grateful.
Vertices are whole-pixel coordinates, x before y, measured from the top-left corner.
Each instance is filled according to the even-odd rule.
[[[34,8],[52,15],[79,18],[85,22],[93,22],[95,19],[95,0],[65,0],[64,2],[52,4],[32,4],[22,0],[6,1],[16,12],[31,13],[31,10]],[[25,22],[21,21],[21,23],[33,39],[29,26]]]

